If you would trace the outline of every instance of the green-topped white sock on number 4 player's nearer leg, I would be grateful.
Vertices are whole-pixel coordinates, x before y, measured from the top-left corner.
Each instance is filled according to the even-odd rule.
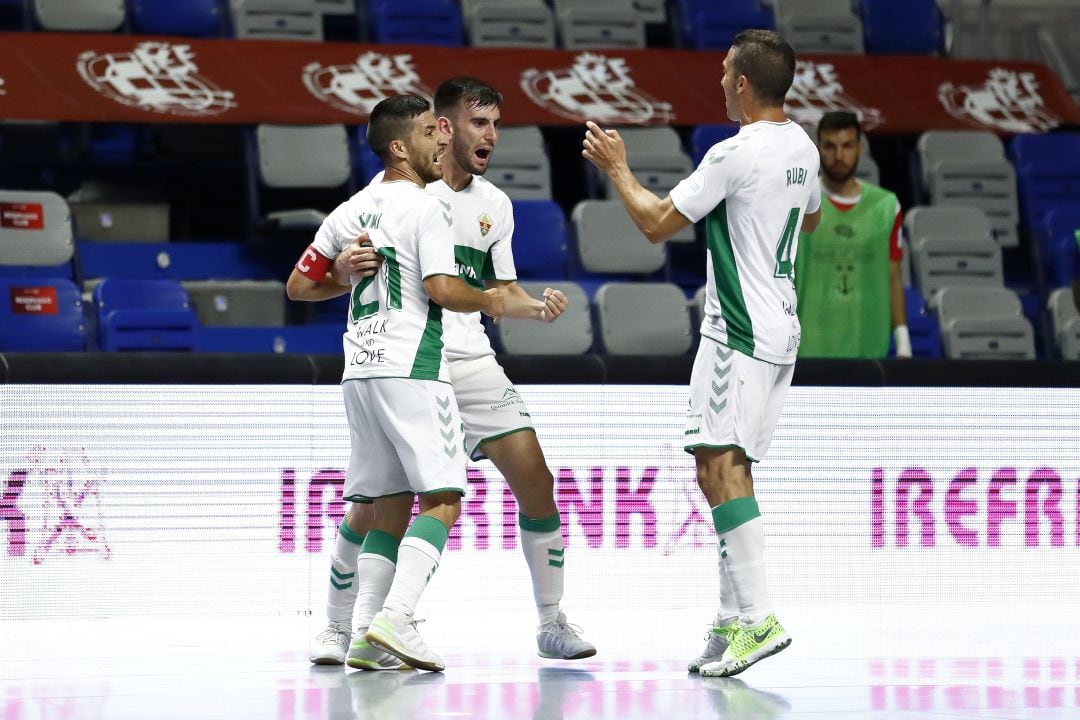
[[[757,501],[737,498],[717,505],[713,522],[739,614],[744,623],[756,625],[772,613],[765,578],[765,529]]]

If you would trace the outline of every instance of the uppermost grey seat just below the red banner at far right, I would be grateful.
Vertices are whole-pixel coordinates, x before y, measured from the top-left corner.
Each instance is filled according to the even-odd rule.
[[[999,245],[1020,244],[1016,174],[996,135],[929,131],[919,136],[917,149],[931,203],[978,207]]]

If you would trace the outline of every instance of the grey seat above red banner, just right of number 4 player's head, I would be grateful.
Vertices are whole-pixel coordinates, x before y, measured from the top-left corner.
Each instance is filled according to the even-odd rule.
[[[773,0],[777,30],[796,53],[862,53],[863,26],[850,0]]]

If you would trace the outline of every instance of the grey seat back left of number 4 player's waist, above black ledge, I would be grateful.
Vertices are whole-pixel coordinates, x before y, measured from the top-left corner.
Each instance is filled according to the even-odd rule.
[[[693,342],[686,295],[677,285],[605,283],[594,305],[609,354],[684,355]]]

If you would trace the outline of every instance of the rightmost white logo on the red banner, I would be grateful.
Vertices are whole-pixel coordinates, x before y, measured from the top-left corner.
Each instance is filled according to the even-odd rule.
[[[1061,122],[1047,110],[1034,72],[994,68],[982,85],[943,82],[937,99],[957,120],[1005,133],[1042,133]]]

